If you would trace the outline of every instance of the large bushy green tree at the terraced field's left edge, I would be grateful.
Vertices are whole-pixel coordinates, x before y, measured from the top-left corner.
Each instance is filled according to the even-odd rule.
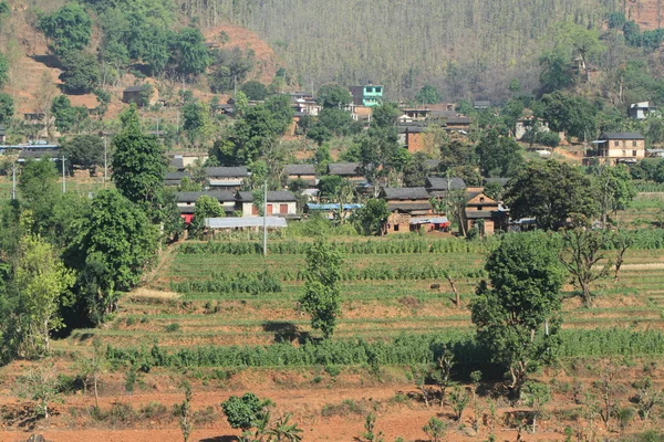
[[[77,303],[101,324],[115,312],[122,292],[141,282],[158,243],[145,213],[117,190],[103,190],[76,225],[65,251],[68,266],[79,271]]]

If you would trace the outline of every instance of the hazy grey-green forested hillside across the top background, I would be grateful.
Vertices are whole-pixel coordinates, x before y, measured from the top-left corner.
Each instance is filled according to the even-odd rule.
[[[656,0],[178,1],[204,24],[258,31],[308,88],[372,80],[401,98],[426,82],[448,99],[499,99],[513,77],[536,88],[539,39],[557,22],[600,27],[612,11],[640,20],[656,10]]]

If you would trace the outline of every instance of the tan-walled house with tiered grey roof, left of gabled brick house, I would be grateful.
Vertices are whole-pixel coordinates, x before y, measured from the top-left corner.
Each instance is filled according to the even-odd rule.
[[[384,228],[385,233],[409,232],[417,227],[417,218],[430,217],[433,207],[429,194],[423,187],[383,188],[380,198],[387,201],[391,212]]]

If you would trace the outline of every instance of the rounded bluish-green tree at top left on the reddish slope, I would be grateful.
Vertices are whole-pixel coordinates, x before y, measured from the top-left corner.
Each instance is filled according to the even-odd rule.
[[[92,19],[76,3],[68,3],[39,20],[39,28],[50,41],[49,48],[58,55],[82,51],[90,43]]]

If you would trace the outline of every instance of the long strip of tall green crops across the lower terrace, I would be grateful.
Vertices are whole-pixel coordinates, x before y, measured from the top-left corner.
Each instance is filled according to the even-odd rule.
[[[319,344],[273,344],[270,346],[200,346],[168,351],[152,348],[120,349],[111,345],[107,357],[142,369],[151,367],[308,367],[329,365],[412,365],[434,362],[450,348],[461,366],[486,364],[483,348],[470,330],[436,335],[400,335],[393,339],[325,340]],[[613,357],[664,354],[664,334],[626,329],[572,329],[561,332],[559,357]]]

